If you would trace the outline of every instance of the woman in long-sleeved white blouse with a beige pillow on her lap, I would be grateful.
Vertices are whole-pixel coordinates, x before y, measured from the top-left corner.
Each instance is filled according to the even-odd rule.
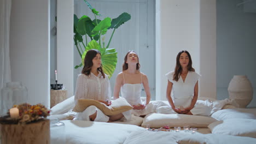
[[[101,53],[98,50],[89,50],[84,59],[82,74],[78,75],[75,88],[75,104],[78,99],[94,99],[106,105],[111,105],[111,89],[108,76],[104,74],[101,64]],[[78,120],[109,122],[117,121],[123,114],[106,116],[96,106],[89,106],[83,112],[77,113]]]

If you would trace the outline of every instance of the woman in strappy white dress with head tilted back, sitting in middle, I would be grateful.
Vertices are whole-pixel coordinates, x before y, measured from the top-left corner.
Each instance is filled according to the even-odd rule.
[[[147,75],[139,71],[139,67],[137,53],[135,51],[127,52],[124,58],[123,71],[118,74],[114,87],[114,99],[119,98],[121,90],[121,96],[133,106],[131,113],[135,116],[149,113],[146,107],[150,101],[148,78]],[[147,95],[146,101],[141,100],[142,85]]]

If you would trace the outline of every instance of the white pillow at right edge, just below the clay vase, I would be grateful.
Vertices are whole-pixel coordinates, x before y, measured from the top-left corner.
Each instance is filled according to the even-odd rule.
[[[224,109],[218,110],[214,112],[211,117],[217,119],[218,121],[222,121],[224,119],[229,118],[246,118],[246,119],[256,119],[256,115],[253,113],[246,113],[251,112],[250,110],[243,110],[243,109]],[[256,109],[254,109],[256,111]]]

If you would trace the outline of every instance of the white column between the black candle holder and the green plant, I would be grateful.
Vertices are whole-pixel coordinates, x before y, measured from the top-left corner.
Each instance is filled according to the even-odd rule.
[[[66,87],[68,97],[74,94],[73,14],[73,0],[57,0],[57,78]]]

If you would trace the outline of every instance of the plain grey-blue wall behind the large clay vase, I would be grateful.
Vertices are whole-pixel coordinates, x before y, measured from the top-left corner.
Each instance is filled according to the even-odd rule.
[[[243,4],[217,0],[217,97],[228,98],[234,75],[247,75],[254,95],[248,106],[256,106],[256,13],[245,13]],[[254,8],[256,3],[248,2]]]

